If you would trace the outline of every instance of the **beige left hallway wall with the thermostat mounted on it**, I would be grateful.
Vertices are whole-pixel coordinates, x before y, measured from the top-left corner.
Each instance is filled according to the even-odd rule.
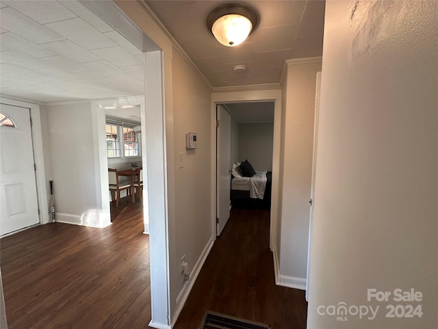
[[[185,255],[190,271],[202,265],[211,247],[211,93],[181,55],[172,56],[173,143],[175,156],[182,153],[183,168],[175,162],[176,265]],[[185,134],[196,132],[197,149],[185,148]],[[170,273],[171,302],[180,302],[185,287],[179,266]],[[194,280],[194,278],[192,278]],[[177,305],[176,303],[175,305]]]

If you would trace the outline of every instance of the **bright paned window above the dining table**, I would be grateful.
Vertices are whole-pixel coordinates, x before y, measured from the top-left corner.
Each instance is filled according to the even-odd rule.
[[[121,121],[107,121],[108,158],[133,158],[140,156],[140,132],[136,124]]]

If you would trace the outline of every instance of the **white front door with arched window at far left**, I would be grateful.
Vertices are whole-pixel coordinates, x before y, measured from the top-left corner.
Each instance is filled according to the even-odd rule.
[[[0,235],[38,224],[29,108],[0,104]]]

